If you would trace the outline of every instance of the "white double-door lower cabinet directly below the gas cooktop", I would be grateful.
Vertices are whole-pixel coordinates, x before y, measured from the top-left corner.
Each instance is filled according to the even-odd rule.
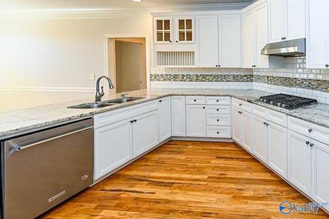
[[[257,105],[253,105],[252,110],[256,114],[264,115],[264,117],[252,115],[254,133],[252,153],[287,179],[287,116]]]

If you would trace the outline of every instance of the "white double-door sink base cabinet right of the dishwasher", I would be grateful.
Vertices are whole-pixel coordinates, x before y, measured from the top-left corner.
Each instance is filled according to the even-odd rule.
[[[94,180],[159,143],[157,102],[94,115]]]

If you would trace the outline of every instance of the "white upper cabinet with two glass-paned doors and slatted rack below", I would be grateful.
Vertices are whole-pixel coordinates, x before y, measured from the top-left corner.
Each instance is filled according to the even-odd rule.
[[[195,16],[156,13],[153,18],[154,66],[195,67]]]

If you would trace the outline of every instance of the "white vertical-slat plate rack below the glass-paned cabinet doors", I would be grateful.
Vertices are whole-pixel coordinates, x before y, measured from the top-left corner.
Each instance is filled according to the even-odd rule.
[[[156,53],[158,66],[193,66],[194,60],[194,51]]]

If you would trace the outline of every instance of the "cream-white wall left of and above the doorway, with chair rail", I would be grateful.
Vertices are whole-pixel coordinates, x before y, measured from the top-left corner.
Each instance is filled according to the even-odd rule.
[[[93,97],[96,80],[88,76],[95,74],[97,79],[106,72],[104,34],[152,37],[152,17],[1,19],[0,29],[0,111],[4,111]],[[8,105],[13,101],[20,106]]]

